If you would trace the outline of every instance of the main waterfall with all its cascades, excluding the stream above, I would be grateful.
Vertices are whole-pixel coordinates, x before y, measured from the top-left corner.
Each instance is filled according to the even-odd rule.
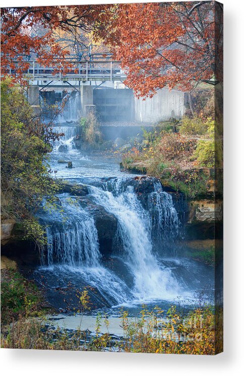
[[[128,177],[110,179],[100,187],[89,185],[85,209],[82,200],[59,195],[59,207],[42,216],[47,236],[44,264],[49,268],[64,268],[62,273],[79,274],[110,305],[172,301],[187,293],[154,249],[155,233],[162,233],[163,239],[170,240],[179,233],[180,221],[171,195],[162,191],[160,183],[152,181],[147,181],[148,189],[153,190],[146,194],[148,207],[143,206],[136,186],[141,180],[132,181]],[[102,206],[118,220],[113,257],[122,262],[126,276],[104,266],[90,203]]]

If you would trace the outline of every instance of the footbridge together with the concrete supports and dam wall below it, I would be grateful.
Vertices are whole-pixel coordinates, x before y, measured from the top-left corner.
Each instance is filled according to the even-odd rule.
[[[75,91],[79,93],[83,116],[95,108],[104,121],[123,118],[152,123],[179,119],[184,115],[184,93],[178,90],[161,89],[153,98],[142,100],[136,99],[131,89],[115,88],[114,82],[123,83],[126,74],[121,70],[120,62],[110,58],[85,61],[76,57],[65,59],[65,63],[53,60],[48,67],[34,59],[14,63],[16,68],[10,68],[9,73],[14,75],[23,66],[22,71],[29,80],[29,103],[36,114],[40,112],[40,96],[46,95],[47,99],[48,91],[58,92],[61,96],[67,91]],[[107,84],[103,85],[105,82]],[[52,95],[50,93],[48,98]],[[55,95],[53,97],[55,99]]]

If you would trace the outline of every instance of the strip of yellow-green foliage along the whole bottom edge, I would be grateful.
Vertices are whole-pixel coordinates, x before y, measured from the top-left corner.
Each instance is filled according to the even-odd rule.
[[[128,312],[123,311],[121,326],[124,334],[114,347],[109,333],[100,333],[101,314],[97,315],[95,337],[88,337],[79,329],[70,333],[45,327],[44,323],[34,319],[24,319],[2,335],[2,347],[86,351],[104,351],[110,347],[112,351],[117,348],[125,352],[214,355],[217,350],[221,351],[215,342],[215,332],[222,329],[222,310],[216,315],[218,319],[207,306],[186,316],[177,312],[175,306],[170,307],[166,315],[159,307],[152,311],[143,307],[136,318],[129,318]],[[105,322],[108,327],[106,318]]]

